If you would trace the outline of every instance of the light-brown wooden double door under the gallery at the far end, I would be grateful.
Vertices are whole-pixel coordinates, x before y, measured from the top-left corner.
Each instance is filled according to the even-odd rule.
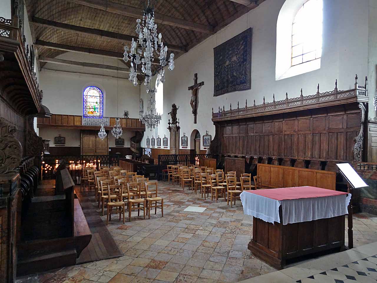
[[[81,131],[82,155],[107,155],[109,154],[107,137],[101,140],[97,131]]]

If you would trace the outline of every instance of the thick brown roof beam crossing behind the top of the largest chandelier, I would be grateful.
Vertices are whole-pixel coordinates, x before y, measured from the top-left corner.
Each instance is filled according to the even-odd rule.
[[[132,18],[141,18],[143,16],[143,9],[135,8],[127,5],[122,5],[110,1],[104,0],[68,0],[80,5],[97,8],[110,13],[124,15]],[[200,31],[207,34],[214,34],[213,27],[209,25],[203,25],[199,23],[190,22],[180,18],[174,18],[167,15],[159,14],[155,12],[155,22],[162,23],[164,25],[176,26],[184,29],[191,29],[193,31]]]

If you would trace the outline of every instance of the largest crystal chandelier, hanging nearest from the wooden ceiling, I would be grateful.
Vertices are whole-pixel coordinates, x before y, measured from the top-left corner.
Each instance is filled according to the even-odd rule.
[[[136,20],[136,34],[139,36],[138,42],[132,38],[131,48],[124,46],[124,62],[131,62],[130,68],[130,82],[134,86],[138,85],[137,71],[138,65],[140,73],[144,76],[144,85],[148,86],[152,78],[152,65],[155,66],[154,74],[158,74],[160,82],[165,81],[164,67],[168,65],[168,69],[174,69],[174,54],[170,53],[167,60],[167,46],[161,42],[162,35],[157,35],[157,24],[155,23],[155,11],[153,6],[144,9],[143,18]]]

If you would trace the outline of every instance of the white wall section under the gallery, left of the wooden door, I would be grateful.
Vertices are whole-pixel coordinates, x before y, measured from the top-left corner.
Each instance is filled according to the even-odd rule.
[[[80,130],[79,129],[56,129],[56,128],[40,128],[39,136],[44,140],[50,140],[50,147],[55,146],[54,138],[59,134],[66,138],[66,146],[80,147]]]

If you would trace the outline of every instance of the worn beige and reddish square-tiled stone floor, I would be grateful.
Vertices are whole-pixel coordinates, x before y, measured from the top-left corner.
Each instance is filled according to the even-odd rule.
[[[239,200],[231,208],[223,199],[219,199],[218,203],[210,198],[204,200],[199,193],[195,194],[189,189],[183,191],[179,186],[162,181],[158,183],[158,192],[159,197],[164,198],[164,217],[161,217],[159,209],[157,214],[152,210],[150,219],[145,220],[143,216],[137,216],[137,212],[132,212],[132,221],[128,221],[127,217],[126,223],[123,224],[118,217],[113,217],[107,226],[123,257],[38,274],[38,282],[225,283],[280,272],[248,251],[247,244],[252,236],[253,218],[244,215]],[[97,209],[94,197],[92,200],[93,207]],[[188,210],[192,207],[202,211]],[[100,210],[97,211],[100,214]],[[101,218],[106,222],[106,212]],[[355,247],[377,241],[377,217],[356,214],[353,223]],[[347,225],[345,228],[347,229]],[[355,270],[356,267],[350,268],[355,272],[346,275],[374,279],[374,271],[368,268],[377,269],[375,266],[369,266],[371,263],[374,264],[375,260],[377,258],[368,257],[368,261],[362,261],[363,265],[359,264],[362,266],[360,270]],[[365,272],[367,275],[358,274],[357,271]],[[340,273],[329,271],[329,274],[337,274],[336,272]],[[326,271],[326,275],[320,275],[331,277],[329,274]],[[293,282],[302,278],[306,280],[307,277],[308,275],[302,276]],[[341,276],[334,280],[349,283],[353,280],[350,278],[344,279]]]

